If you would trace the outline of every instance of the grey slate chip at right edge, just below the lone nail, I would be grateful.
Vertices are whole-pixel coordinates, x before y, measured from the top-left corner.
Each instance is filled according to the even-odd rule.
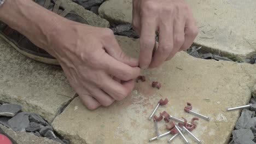
[[[244,109],[241,117],[238,118],[236,129],[250,129],[251,127],[255,127],[256,117],[254,115],[255,112]]]

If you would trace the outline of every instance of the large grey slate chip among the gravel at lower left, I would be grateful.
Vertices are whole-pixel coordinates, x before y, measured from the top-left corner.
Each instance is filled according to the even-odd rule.
[[[26,131],[26,128],[30,125],[28,116],[30,116],[30,113],[20,112],[13,118],[9,119],[8,125],[10,125],[10,128],[14,131]]]

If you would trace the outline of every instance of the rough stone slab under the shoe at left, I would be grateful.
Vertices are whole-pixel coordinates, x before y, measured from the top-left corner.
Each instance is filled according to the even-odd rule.
[[[75,92],[58,66],[26,58],[0,39],[0,101],[19,104],[48,122]]]

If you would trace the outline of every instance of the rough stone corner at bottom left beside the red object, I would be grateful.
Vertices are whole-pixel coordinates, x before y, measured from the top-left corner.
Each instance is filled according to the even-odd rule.
[[[10,137],[12,137],[18,144],[60,144],[59,142],[55,142],[53,140],[49,140],[46,137],[38,137],[32,133],[25,133],[20,131],[13,131],[6,127],[3,127],[0,124],[0,127],[7,133]],[[2,144],[2,143],[1,143]]]

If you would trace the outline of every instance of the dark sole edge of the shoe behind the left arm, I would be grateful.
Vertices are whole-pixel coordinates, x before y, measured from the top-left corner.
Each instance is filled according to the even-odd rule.
[[[10,44],[12,47],[14,47],[15,50],[19,51],[22,55],[26,57],[29,57],[35,61],[46,63],[46,64],[60,65],[57,59],[35,56],[35,55],[32,55],[31,53],[20,50],[19,47],[17,47],[12,41],[6,38],[2,33],[0,33],[0,37],[3,38],[5,41],[7,41],[7,43]]]

